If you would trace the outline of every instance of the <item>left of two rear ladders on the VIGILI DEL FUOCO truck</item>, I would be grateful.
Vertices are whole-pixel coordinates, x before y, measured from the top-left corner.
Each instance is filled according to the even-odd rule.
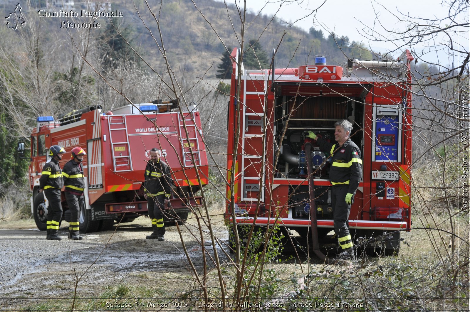
[[[125,115],[109,115],[111,155],[113,156],[113,171],[132,171],[131,149]]]

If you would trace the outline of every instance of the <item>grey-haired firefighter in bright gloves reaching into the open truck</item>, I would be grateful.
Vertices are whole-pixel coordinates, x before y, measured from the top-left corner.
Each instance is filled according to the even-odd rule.
[[[351,131],[352,124],[348,120],[339,120],[335,123],[335,139],[338,144],[327,142],[312,131],[308,131],[307,137],[316,140],[320,149],[326,155],[331,155],[329,179],[332,184],[333,226],[341,246],[340,257],[354,259],[347,222],[354,195],[362,179],[362,160],[360,149],[350,139]]]

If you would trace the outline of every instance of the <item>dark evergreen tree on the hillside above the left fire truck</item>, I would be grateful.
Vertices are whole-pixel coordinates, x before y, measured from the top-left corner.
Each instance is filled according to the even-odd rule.
[[[105,69],[116,68],[119,64],[129,61],[138,62],[138,57],[131,48],[134,31],[129,26],[123,27],[121,22],[118,17],[111,18],[111,22],[106,23],[106,28],[99,37],[100,57]]]

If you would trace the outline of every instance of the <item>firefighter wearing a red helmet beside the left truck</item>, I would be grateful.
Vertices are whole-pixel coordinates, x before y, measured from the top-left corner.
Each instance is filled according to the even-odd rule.
[[[71,160],[63,166],[62,176],[65,186],[65,199],[71,211],[69,225],[69,239],[81,240],[80,235],[80,207],[83,205],[83,190],[85,178],[83,175],[83,156],[86,153],[83,148],[76,147],[71,150]]]

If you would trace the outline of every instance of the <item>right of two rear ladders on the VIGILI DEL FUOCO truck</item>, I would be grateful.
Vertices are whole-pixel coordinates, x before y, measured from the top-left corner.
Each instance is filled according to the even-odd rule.
[[[185,125],[186,129],[188,130],[188,137],[186,137],[186,131],[184,130]],[[199,129],[194,122],[193,114],[191,112],[183,112],[182,114],[178,114],[178,126],[180,130],[181,151],[183,152],[183,166],[194,166],[193,157],[196,165],[200,165],[201,152],[199,149],[199,139],[197,135],[199,133]]]

